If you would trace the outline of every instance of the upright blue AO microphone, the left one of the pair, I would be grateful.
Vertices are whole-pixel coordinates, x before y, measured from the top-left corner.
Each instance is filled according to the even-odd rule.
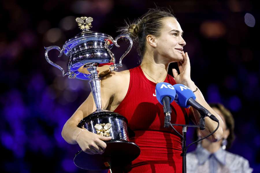
[[[174,87],[167,82],[156,84],[155,95],[160,104],[164,106],[164,127],[170,127],[172,108],[170,104],[173,102],[176,91]]]

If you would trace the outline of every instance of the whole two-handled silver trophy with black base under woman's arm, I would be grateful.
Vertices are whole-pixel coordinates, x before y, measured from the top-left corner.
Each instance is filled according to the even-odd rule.
[[[97,68],[104,64],[111,64],[109,67],[111,71],[118,70],[118,66],[122,67],[122,59],[132,48],[133,42],[127,34],[118,35],[114,40],[104,33],[89,31],[92,21],[92,17],[76,18],[82,32],[67,40],[62,49],[58,46],[45,48],[45,58],[51,65],[60,69],[63,76],[89,80],[96,111],[82,119],[77,126],[101,136],[112,136],[112,140],[104,141],[107,148],[102,155],[89,155],[82,150],[79,151],[74,157],[74,163],[86,170],[103,170],[130,163],[140,154],[140,148],[135,143],[129,142],[127,119],[116,112],[101,108],[100,79],[97,72]],[[120,47],[117,41],[121,38],[129,40],[130,46],[120,58],[119,63],[115,64],[115,57],[110,49],[114,44]],[[68,72],[65,73],[62,67],[49,59],[48,52],[52,49],[59,50],[58,57],[61,57],[62,53],[69,57]]]

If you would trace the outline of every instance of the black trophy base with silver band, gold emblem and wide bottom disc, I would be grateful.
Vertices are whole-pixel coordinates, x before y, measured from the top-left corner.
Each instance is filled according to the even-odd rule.
[[[103,130],[105,124],[110,124],[111,127]],[[129,141],[127,119],[124,116],[108,110],[97,110],[83,118],[77,126],[97,134],[97,125],[103,125],[103,135],[106,133],[112,139],[104,141],[107,147],[102,155],[90,155],[79,151],[74,157],[74,164],[77,167],[86,170],[111,169],[127,165],[140,155],[139,146]]]

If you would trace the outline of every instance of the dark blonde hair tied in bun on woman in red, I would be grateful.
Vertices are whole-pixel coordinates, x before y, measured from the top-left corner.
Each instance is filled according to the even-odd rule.
[[[121,33],[130,33],[141,58],[140,61],[142,61],[145,52],[146,36],[160,36],[160,29],[163,26],[162,19],[165,17],[176,19],[171,8],[156,7],[149,9],[141,18],[134,20],[132,23],[126,22],[126,26],[118,30]]]

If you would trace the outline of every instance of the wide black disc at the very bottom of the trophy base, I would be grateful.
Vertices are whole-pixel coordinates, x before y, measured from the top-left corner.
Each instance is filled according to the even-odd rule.
[[[81,150],[75,155],[74,164],[86,170],[106,170],[126,165],[140,155],[140,148],[133,142],[113,139],[104,142],[107,147],[102,155],[90,155]]]

